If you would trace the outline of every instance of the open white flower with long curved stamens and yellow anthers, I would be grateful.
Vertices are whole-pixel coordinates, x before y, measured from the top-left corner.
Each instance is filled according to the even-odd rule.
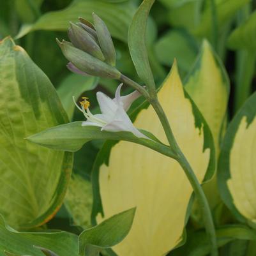
[[[109,132],[132,132],[136,137],[149,139],[133,126],[130,117],[126,114],[132,103],[139,98],[140,93],[134,91],[126,96],[121,96],[122,85],[120,84],[117,87],[114,99],[109,98],[109,96],[102,92],[96,94],[102,114],[93,115],[91,113],[87,98],[83,98],[83,101],[80,102],[81,107],[79,107],[73,97],[75,105],[87,119],[82,122],[82,126],[99,126],[102,127],[102,131]]]

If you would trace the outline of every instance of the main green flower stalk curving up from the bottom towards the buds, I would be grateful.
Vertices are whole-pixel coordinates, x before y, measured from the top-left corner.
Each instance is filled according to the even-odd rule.
[[[122,80],[122,82],[125,82],[126,84],[132,86],[133,88],[142,87],[131,79],[125,79],[125,81]],[[167,140],[170,144],[170,148],[172,149],[172,152],[175,155],[175,157],[173,156],[170,156],[170,157],[176,159],[177,162],[179,162],[179,164],[184,170],[184,173],[186,174],[186,177],[188,178],[188,181],[190,181],[190,184],[193,187],[195,196],[199,200],[199,204],[201,206],[202,213],[204,216],[206,233],[209,236],[209,241],[211,242],[211,256],[218,256],[218,246],[216,243],[215,225],[213,223],[213,217],[211,216],[211,209],[207,202],[206,195],[204,195],[204,190],[202,190],[202,186],[200,185],[197,179],[197,176],[195,176],[195,173],[193,172],[193,169],[190,166],[190,163],[188,163],[188,160],[186,160],[186,157],[184,156],[184,154],[182,153],[181,149],[179,148],[176,142],[176,139],[174,137],[174,134],[172,133],[172,129],[170,127],[167,116],[165,115],[165,112],[162,106],[160,105],[160,102],[158,102],[157,94],[155,94],[154,98],[147,94],[146,99],[149,101],[149,103],[151,103],[156,114],[158,115],[158,118],[160,119],[160,122],[162,123],[163,130],[165,131]]]

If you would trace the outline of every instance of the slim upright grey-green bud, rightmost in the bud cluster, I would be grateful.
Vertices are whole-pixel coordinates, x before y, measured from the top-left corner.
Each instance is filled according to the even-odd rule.
[[[105,22],[93,13],[94,27],[102,48],[106,63],[116,66],[116,50]]]

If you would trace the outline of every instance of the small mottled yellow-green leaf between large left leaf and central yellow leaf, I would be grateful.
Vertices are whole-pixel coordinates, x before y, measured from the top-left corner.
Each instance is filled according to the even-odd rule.
[[[73,175],[64,200],[65,207],[72,216],[73,225],[86,229],[91,225],[93,192],[91,183],[80,175]]]

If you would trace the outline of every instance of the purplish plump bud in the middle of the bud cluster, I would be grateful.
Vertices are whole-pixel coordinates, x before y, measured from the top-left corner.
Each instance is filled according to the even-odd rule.
[[[98,43],[96,43],[93,36],[91,36],[91,34],[86,30],[82,29],[82,27],[70,22],[68,36],[75,47],[87,52],[88,54],[91,54],[91,56],[105,61],[105,57],[103,56],[102,50],[100,49]]]

